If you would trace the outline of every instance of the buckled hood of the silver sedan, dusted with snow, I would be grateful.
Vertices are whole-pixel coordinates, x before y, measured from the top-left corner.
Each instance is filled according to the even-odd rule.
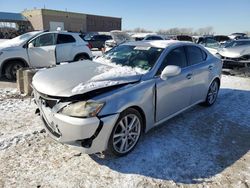
[[[80,61],[38,71],[32,85],[40,93],[70,97],[109,86],[137,82],[141,74],[130,67]]]

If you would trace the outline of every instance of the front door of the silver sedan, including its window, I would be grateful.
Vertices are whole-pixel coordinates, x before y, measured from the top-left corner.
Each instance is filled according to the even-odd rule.
[[[184,47],[172,50],[162,62],[158,74],[167,65],[182,68],[179,75],[162,80],[156,79],[156,121],[161,121],[190,105],[191,87],[193,83],[192,69],[187,67]]]

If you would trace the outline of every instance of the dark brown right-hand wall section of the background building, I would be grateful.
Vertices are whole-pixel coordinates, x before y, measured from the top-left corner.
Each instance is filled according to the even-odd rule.
[[[121,30],[121,18],[87,15],[87,31]]]

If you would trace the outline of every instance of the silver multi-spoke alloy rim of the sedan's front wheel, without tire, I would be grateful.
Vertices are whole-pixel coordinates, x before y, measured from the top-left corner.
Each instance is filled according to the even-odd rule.
[[[118,153],[130,151],[137,143],[141,133],[141,123],[134,114],[123,117],[116,126],[113,147]]]

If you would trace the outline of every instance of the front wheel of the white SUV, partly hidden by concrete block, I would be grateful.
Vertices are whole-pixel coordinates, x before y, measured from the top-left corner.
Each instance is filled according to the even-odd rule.
[[[24,67],[24,64],[20,61],[10,61],[8,62],[8,65],[5,68],[5,76],[9,80],[15,80],[16,79],[16,72],[18,69],[21,69]]]

